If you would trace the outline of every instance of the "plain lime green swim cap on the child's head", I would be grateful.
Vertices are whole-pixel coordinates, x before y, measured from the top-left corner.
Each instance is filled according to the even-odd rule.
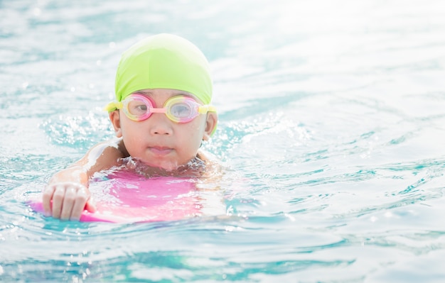
[[[141,89],[178,89],[203,104],[210,104],[213,89],[203,52],[185,38],[166,33],[145,38],[122,54],[114,87],[117,101]]]

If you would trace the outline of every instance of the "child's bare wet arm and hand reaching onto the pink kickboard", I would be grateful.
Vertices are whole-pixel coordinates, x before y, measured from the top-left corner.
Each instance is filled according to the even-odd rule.
[[[119,165],[119,160],[126,155],[126,150],[122,148],[122,140],[118,143],[99,143],[82,159],[54,174],[43,190],[45,215],[79,220],[84,209],[94,212],[95,206],[88,189],[90,178],[95,172]]]

